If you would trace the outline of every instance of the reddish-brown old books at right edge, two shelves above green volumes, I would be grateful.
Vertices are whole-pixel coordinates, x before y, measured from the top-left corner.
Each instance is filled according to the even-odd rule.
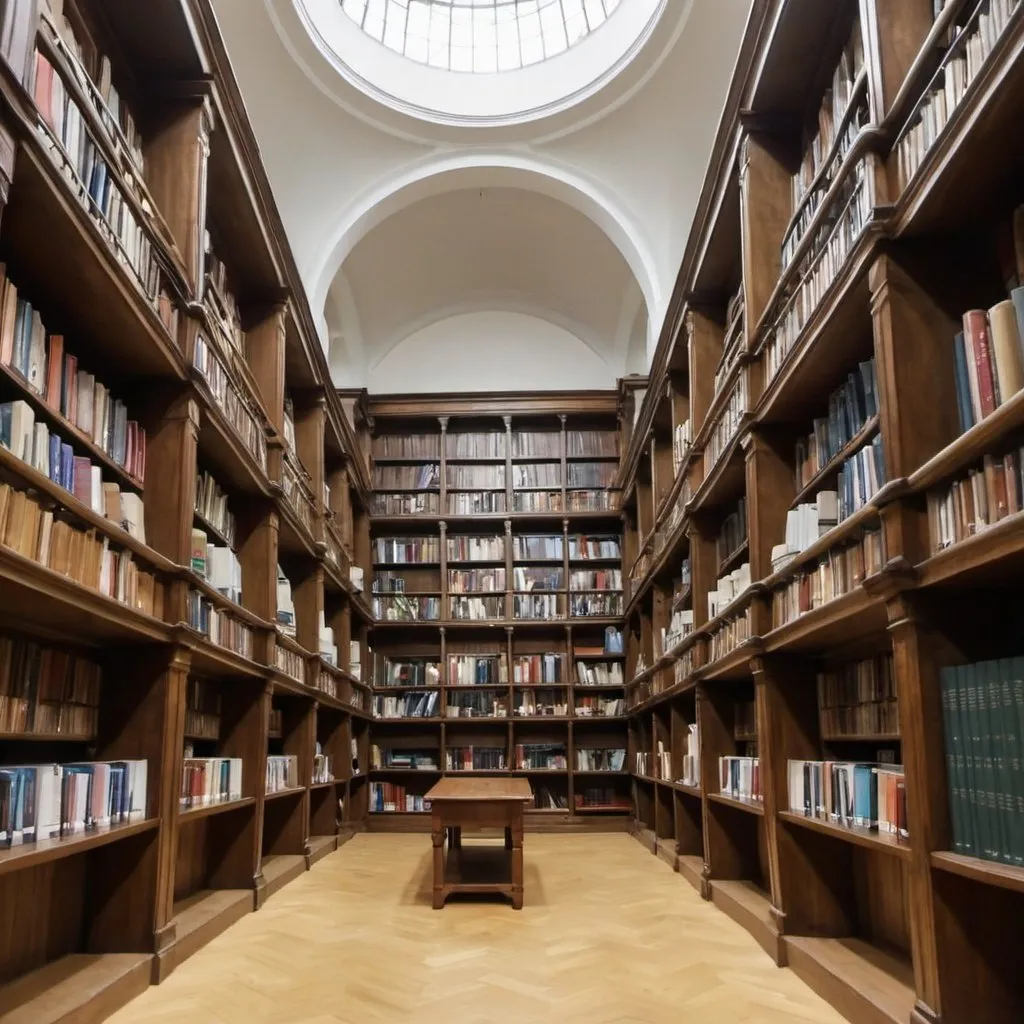
[[[928,496],[932,551],[981,534],[1024,508],[1024,447],[987,455],[981,467]]]

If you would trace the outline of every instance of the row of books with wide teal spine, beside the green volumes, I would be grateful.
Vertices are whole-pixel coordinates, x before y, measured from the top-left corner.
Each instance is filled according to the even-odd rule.
[[[808,818],[909,838],[900,765],[790,761],[790,810]]]

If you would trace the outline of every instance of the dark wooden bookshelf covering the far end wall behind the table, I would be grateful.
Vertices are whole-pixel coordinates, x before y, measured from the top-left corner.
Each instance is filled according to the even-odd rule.
[[[372,397],[370,827],[454,772],[530,779],[536,827],[622,828],[613,392]]]

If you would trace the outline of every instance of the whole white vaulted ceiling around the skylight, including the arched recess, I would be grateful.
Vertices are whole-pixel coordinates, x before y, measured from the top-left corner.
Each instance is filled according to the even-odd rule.
[[[214,7],[338,383],[408,390],[392,369],[429,365],[431,345],[484,313],[518,316],[492,327],[522,336],[536,380],[517,367],[520,386],[560,386],[545,373],[559,344],[559,365],[587,361],[588,386],[645,369],[751,0],[666,0],[611,84],[502,128],[427,123],[364,94],[299,2]],[[447,317],[461,317],[451,331]],[[472,327],[485,345],[486,324]],[[462,389],[505,386],[500,359],[472,367]]]

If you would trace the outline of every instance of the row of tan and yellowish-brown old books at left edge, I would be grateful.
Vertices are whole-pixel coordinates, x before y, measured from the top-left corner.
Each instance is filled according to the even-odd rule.
[[[155,618],[164,615],[164,588],[94,529],[80,529],[43,509],[24,490],[0,483],[0,540],[5,547],[90,590]]]

